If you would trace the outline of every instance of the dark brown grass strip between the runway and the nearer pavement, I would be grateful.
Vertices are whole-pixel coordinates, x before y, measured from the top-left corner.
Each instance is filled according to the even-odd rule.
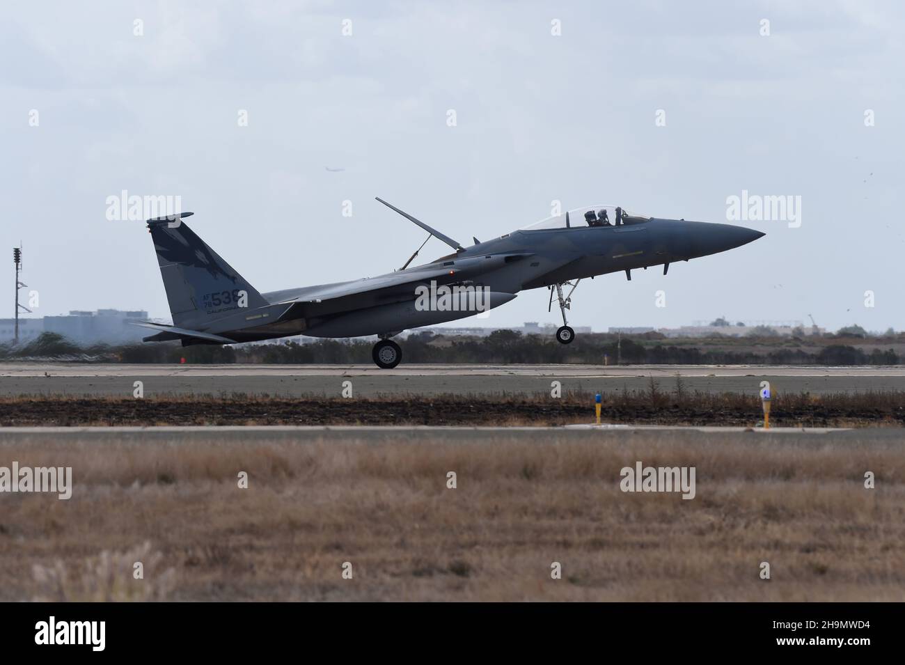
[[[562,425],[584,423],[593,413],[590,393],[561,399],[526,394],[382,395],[369,399],[319,399],[221,394],[123,397],[0,397],[0,426],[27,425],[247,425],[433,424]],[[609,423],[741,425],[763,418],[757,394],[688,392],[677,385],[607,393]],[[781,394],[772,403],[775,426],[858,427],[905,425],[905,392]]]

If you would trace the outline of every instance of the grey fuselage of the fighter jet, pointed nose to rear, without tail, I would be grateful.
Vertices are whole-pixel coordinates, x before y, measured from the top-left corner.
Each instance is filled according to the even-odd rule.
[[[472,245],[437,261],[409,268],[406,272],[412,273],[415,279],[419,271],[432,271],[438,266],[448,268],[449,274],[433,278],[438,285],[464,282],[486,289],[491,294],[487,309],[493,309],[514,299],[521,290],[687,261],[724,252],[756,240],[761,235],[763,233],[730,224],[656,218],[619,226],[519,230]],[[390,274],[393,273],[387,273]],[[303,299],[305,290],[274,291],[263,296],[271,302]],[[283,319],[282,328],[247,332],[253,336],[250,338],[256,339],[299,334],[310,337],[364,337],[432,326],[477,313],[474,310],[419,310],[415,308],[414,296],[414,289],[406,286],[395,292],[395,298],[387,294],[391,301],[384,304],[335,315],[324,311],[303,320],[295,319],[296,325],[291,327],[285,325],[291,321]],[[282,331],[289,328],[291,331]],[[267,337],[258,337],[260,334]],[[233,334],[227,336],[233,337]]]

